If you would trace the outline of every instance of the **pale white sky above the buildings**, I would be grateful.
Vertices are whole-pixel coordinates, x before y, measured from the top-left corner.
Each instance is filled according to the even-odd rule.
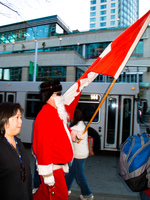
[[[18,14],[0,4],[0,26],[58,15],[71,30],[89,30],[90,0],[0,0],[1,2],[13,2],[9,6]],[[139,0],[139,17],[148,10],[150,0]]]

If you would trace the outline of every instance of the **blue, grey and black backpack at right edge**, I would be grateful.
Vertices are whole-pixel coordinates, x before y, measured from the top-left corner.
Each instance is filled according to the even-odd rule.
[[[150,188],[150,135],[129,136],[122,144],[119,174],[133,192]]]

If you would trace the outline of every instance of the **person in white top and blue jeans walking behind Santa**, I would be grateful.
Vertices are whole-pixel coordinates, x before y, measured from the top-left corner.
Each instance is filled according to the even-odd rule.
[[[89,155],[87,140],[88,133],[86,131],[86,133],[82,135],[83,131],[85,130],[85,124],[83,121],[82,112],[79,109],[75,110],[74,118],[71,120],[70,127],[72,130],[79,131],[80,134],[77,135],[77,137],[80,138],[81,141],[80,143],[78,143],[78,140],[73,142],[74,159],[72,165],[69,167],[69,173],[65,175],[68,193],[71,194],[70,189],[74,179],[76,179],[77,184],[81,189],[80,199],[94,199],[94,196],[89,189],[86,177],[84,175],[84,165]]]

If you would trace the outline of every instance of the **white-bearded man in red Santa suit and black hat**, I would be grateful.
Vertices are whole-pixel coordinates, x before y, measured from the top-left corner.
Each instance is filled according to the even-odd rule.
[[[41,101],[45,104],[35,119],[33,151],[41,184],[34,200],[68,199],[65,173],[73,159],[73,147],[61,90],[57,79],[40,85]]]

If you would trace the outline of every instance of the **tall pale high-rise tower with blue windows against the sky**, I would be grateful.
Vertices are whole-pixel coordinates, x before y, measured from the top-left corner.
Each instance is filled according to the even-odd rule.
[[[90,30],[127,27],[139,18],[139,0],[91,0]]]

